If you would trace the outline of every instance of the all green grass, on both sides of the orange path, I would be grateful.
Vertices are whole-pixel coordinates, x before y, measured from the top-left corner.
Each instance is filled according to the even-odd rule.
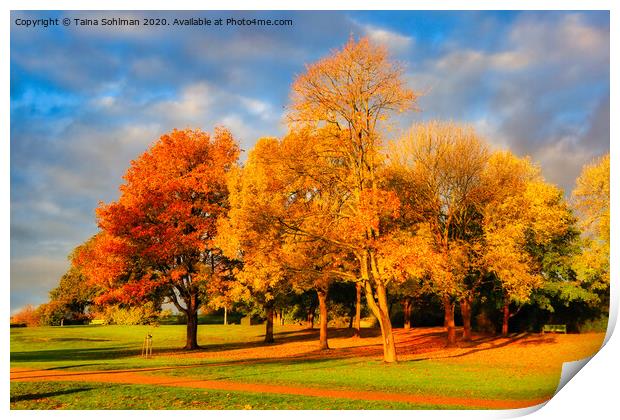
[[[155,357],[152,359],[140,357],[142,340],[147,332],[151,332],[154,336]],[[199,327],[199,342],[207,351],[261,348],[263,332],[264,327],[260,325],[203,325]],[[276,333],[276,340],[304,339],[304,332],[296,327],[278,327]],[[52,371],[172,367],[150,374],[484,399],[548,397],[555,391],[559,380],[559,366],[557,370],[538,370],[534,364],[534,368],[526,369],[523,360],[511,362],[510,357],[505,356],[497,360],[484,354],[469,358],[428,360],[421,358],[399,362],[396,365],[383,364],[376,357],[257,358],[241,363],[238,360],[227,360],[224,356],[199,358],[192,353],[161,354],[182,347],[184,334],[184,326],[178,325],[164,325],[157,328],[69,326],[12,329],[11,367]],[[308,341],[308,346],[312,348],[316,343]],[[313,397],[160,388],[96,383],[12,383],[11,406],[12,408],[45,408],[53,405],[65,408],[243,408],[249,405],[253,408],[415,408],[400,403],[335,399],[317,406],[312,402],[316,400]],[[47,391],[48,389],[66,392],[36,398],[38,394],[52,392]],[[130,397],[134,394],[141,396],[139,401]],[[29,395],[34,397],[24,397]],[[221,399],[223,395],[227,396],[224,400]]]

